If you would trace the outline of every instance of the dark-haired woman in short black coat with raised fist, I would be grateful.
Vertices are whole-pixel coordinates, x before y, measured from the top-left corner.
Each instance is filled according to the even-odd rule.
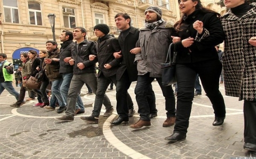
[[[225,103],[219,92],[222,64],[215,46],[224,40],[219,14],[202,6],[200,0],[180,0],[181,20],[175,23],[177,35],[172,36],[177,51],[176,75],[178,84],[176,124],[169,141],[186,138],[194,98],[197,73],[214,109],[214,126],[225,119]]]

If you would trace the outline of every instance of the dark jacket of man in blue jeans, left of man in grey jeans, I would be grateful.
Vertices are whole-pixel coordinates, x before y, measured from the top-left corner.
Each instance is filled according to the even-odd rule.
[[[61,52],[60,52],[60,73],[71,73],[73,72],[73,66],[70,65],[68,62],[64,62],[64,58],[71,57],[71,45],[73,45],[74,42],[72,40],[65,41],[61,43]]]

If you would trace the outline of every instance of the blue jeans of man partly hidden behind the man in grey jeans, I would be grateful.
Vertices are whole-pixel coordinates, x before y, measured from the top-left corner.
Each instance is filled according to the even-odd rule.
[[[61,93],[63,95],[64,101],[67,103],[67,99],[68,99],[68,92],[70,89],[70,83],[71,83],[71,79],[73,77],[73,73],[65,73],[62,74],[62,86],[61,86]],[[83,101],[81,99],[80,94],[78,94],[78,99],[76,102],[76,109],[81,108],[81,110],[85,110]]]

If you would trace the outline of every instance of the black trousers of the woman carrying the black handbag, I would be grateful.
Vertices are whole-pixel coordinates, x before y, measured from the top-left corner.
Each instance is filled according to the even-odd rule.
[[[214,114],[225,117],[225,103],[219,91],[219,76],[222,64],[219,60],[201,61],[194,64],[177,64],[176,75],[178,84],[176,124],[174,132],[186,134],[194,98],[194,82],[197,73],[202,86],[212,103]]]

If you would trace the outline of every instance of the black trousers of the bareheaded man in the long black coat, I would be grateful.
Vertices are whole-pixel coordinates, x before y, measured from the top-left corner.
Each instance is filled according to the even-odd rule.
[[[127,70],[116,82],[116,111],[122,118],[128,118],[129,109],[133,110],[132,98],[127,92],[131,84]]]

